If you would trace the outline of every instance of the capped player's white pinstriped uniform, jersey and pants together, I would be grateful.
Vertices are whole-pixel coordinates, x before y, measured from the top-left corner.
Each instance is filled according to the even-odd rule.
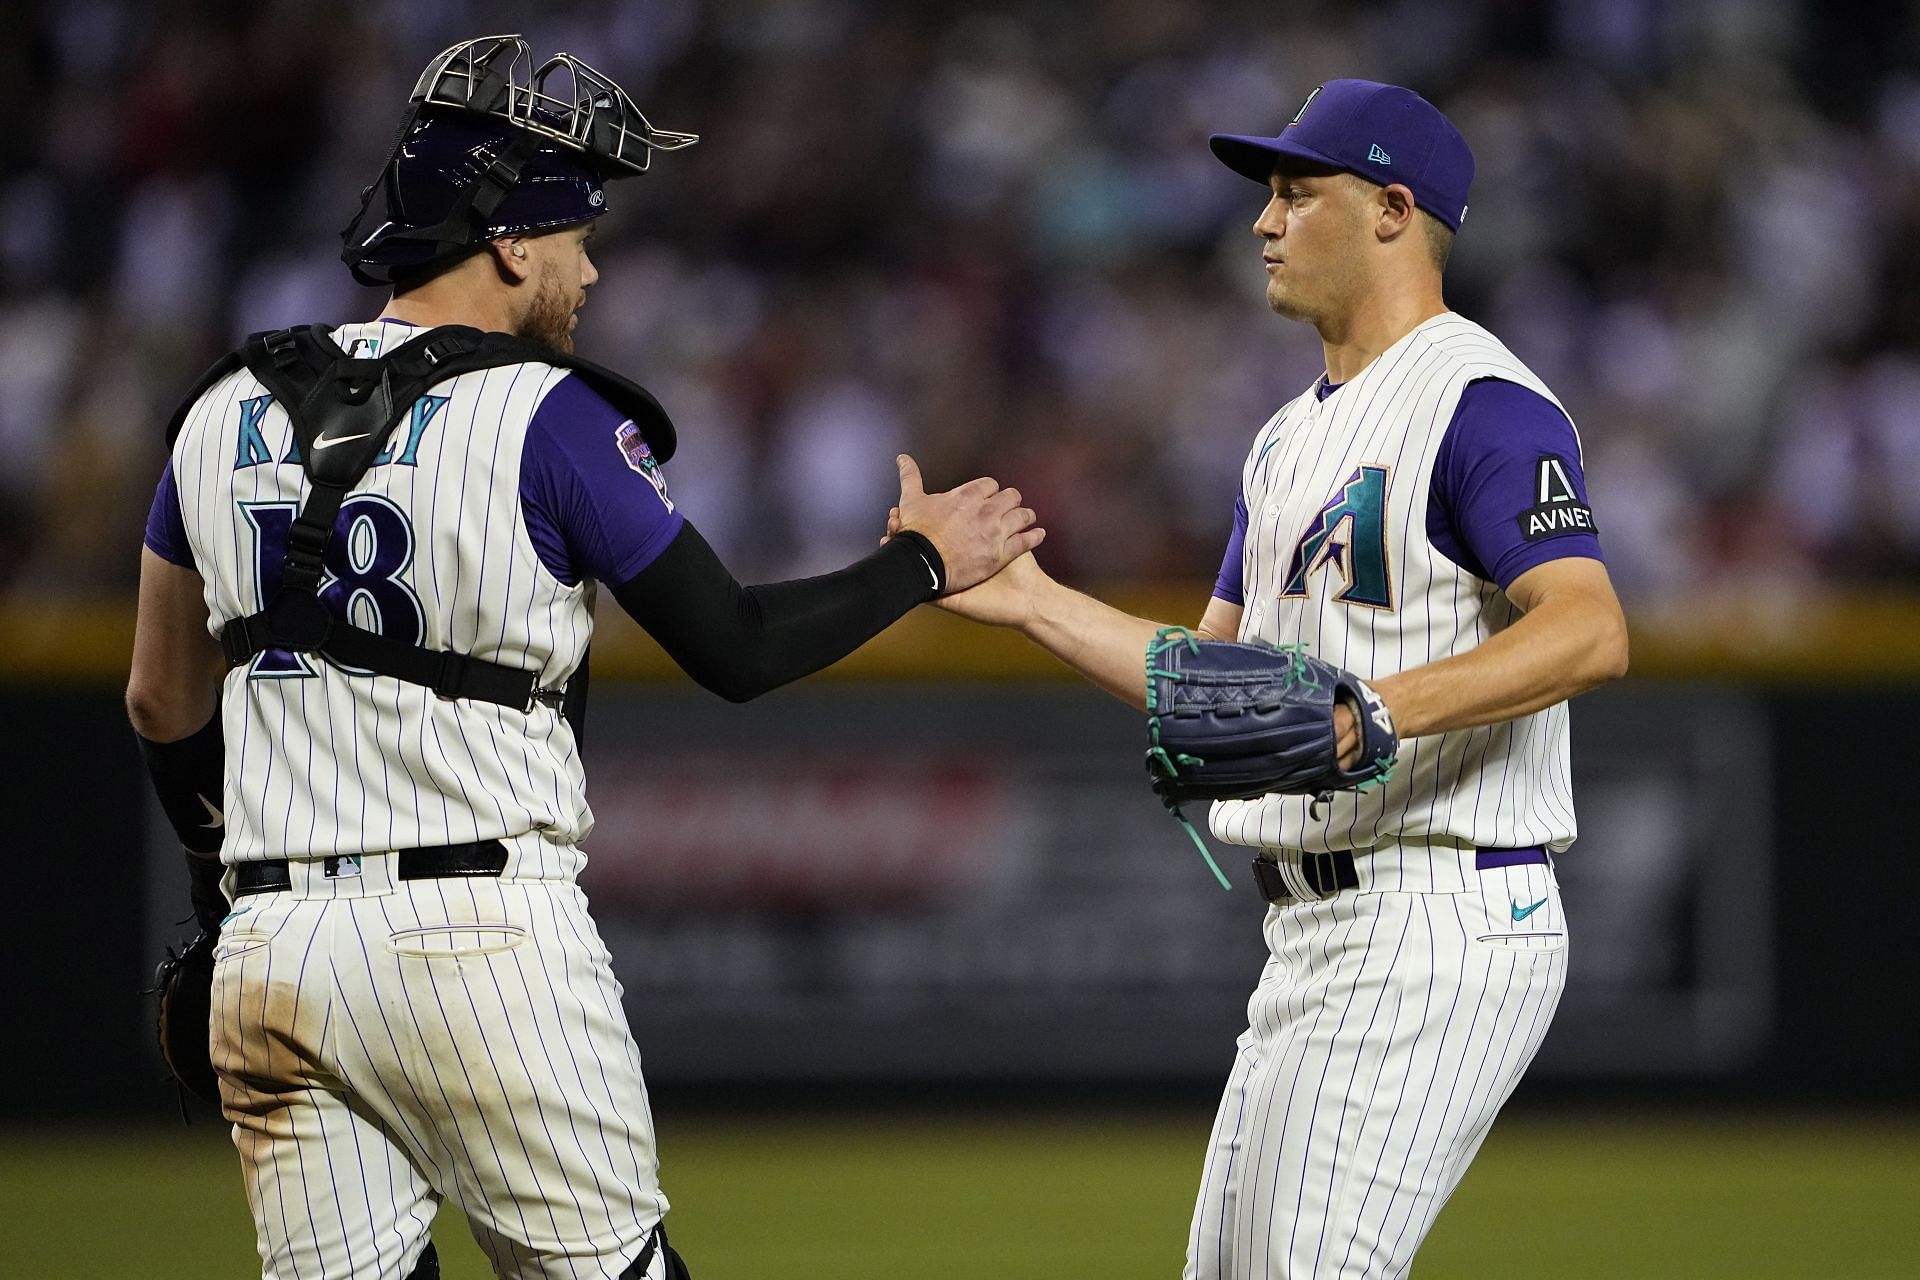
[[[1427,541],[1434,457],[1476,378],[1553,399],[1484,328],[1440,315],[1267,422],[1242,474],[1240,639],[1302,643],[1379,677],[1513,624],[1498,585]],[[1294,545],[1363,466],[1386,472],[1392,604],[1336,601],[1338,570],[1281,595]],[[1213,1123],[1187,1280],[1407,1274],[1567,981],[1551,867],[1475,864],[1476,846],[1572,842],[1567,760],[1559,704],[1405,741],[1390,783],[1334,793],[1317,818],[1308,796],[1213,806],[1213,833],[1273,850],[1296,892],[1309,894],[1302,854],[1334,848],[1357,850],[1359,885],[1267,912],[1271,954]]]

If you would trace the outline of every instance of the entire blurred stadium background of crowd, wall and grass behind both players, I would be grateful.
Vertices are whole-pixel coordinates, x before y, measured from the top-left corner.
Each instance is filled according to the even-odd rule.
[[[860,555],[906,447],[1179,620],[1317,370],[1206,132],[1334,75],[1450,111],[1480,177],[1448,296],[1580,422],[1634,676],[1576,716],[1574,984],[1421,1274],[1910,1274],[1908,6],[534,10],[0,23],[0,1270],[246,1274],[232,1153],[179,1126],[138,996],[186,910],[117,702],[157,424],[236,336],[378,307],[336,230],[413,75],[524,31],[703,134],[612,190],[582,351],[676,415],[674,495],[743,578]],[[676,1240],[722,1278],[1171,1274],[1258,902],[1123,710],[922,614],[747,708],[603,616],[589,892]]]

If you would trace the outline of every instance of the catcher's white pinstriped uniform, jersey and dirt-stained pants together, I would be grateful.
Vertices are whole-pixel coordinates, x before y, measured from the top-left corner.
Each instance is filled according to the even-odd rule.
[[[520,512],[526,428],[563,376],[515,365],[440,384],[415,464],[376,464],[355,489],[413,532],[397,580],[424,643],[547,687],[593,631],[591,585],[547,572]],[[175,445],[215,631],[263,603],[263,520],[305,497],[298,462],[278,462],[282,409],[244,438],[240,405],[263,393],[225,378]],[[236,466],[261,453],[275,461]],[[294,860],[290,890],[238,900],[213,975],[213,1063],[265,1276],[407,1276],[442,1197],[499,1276],[618,1276],[666,1197],[620,984],[574,885],[593,819],[572,729],[545,706],[444,700],[317,658],[228,674],[223,714],[223,858]],[[382,852],[484,839],[509,848],[499,879],[401,883]],[[328,875],[328,854],[363,856]]]

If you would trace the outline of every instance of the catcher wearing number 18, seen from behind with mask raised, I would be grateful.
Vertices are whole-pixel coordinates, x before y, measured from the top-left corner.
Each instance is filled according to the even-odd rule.
[[[906,537],[732,576],[668,495],[666,411],[572,338],[607,184],[691,142],[578,58],[451,46],[342,232],[382,315],[255,334],[169,422],[127,708],[207,935],[163,1034],[269,1280],[432,1280],[444,1201],[503,1278],[684,1280],[576,885],[595,593],[745,702],[1044,535],[899,455]]]

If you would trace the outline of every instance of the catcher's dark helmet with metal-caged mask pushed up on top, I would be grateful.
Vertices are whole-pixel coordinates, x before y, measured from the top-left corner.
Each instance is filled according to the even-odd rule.
[[[488,240],[599,217],[605,182],[697,140],[649,125],[626,90],[572,54],[536,67],[516,35],[463,40],[413,86],[394,150],[340,232],[340,257],[361,284],[420,280]]]

